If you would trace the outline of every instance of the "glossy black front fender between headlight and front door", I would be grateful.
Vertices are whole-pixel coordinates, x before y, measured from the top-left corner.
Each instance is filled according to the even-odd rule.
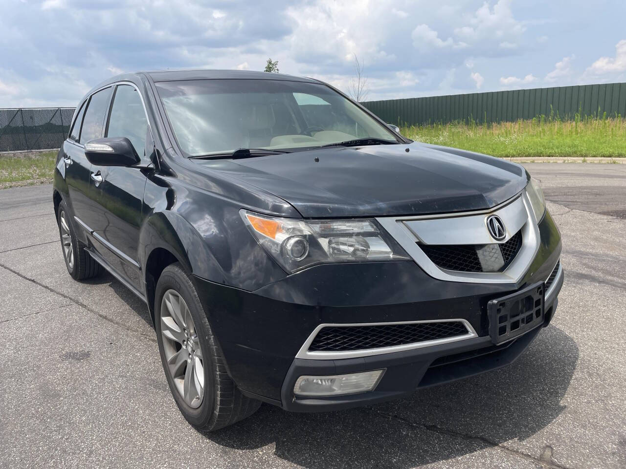
[[[242,290],[257,290],[285,277],[245,226],[242,204],[175,178],[149,176],[144,193],[145,221],[140,258],[170,251],[189,273]]]

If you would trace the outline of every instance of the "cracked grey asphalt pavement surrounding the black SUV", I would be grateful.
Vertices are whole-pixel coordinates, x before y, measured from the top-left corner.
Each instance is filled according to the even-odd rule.
[[[563,236],[552,324],[508,368],[349,411],[182,418],[146,306],[69,277],[51,186],[0,190],[0,467],[625,468],[626,166],[537,163]]]

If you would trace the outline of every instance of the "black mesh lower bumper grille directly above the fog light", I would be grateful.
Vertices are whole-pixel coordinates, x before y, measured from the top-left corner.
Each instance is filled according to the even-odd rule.
[[[309,346],[309,351],[367,350],[466,334],[468,334],[468,330],[461,321],[372,326],[327,326],[317,333]]]

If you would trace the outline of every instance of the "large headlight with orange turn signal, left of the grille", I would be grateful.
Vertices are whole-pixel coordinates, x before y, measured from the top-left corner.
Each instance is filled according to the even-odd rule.
[[[240,213],[259,244],[288,272],[320,263],[409,259],[374,219],[304,221]]]

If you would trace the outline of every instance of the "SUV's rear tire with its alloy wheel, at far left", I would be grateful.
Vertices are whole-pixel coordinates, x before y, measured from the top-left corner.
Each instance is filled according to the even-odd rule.
[[[74,280],[86,280],[100,275],[102,266],[85,251],[85,243],[76,239],[74,225],[71,223],[69,210],[64,201],[59,204],[56,222],[59,226],[63,259],[69,275]]]

